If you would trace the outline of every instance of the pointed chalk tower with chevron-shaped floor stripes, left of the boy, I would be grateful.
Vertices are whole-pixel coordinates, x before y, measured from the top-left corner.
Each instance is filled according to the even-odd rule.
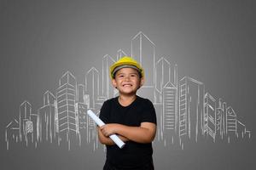
[[[77,137],[77,118],[75,112],[76,99],[76,78],[67,71],[59,80],[59,88],[56,90],[58,123],[59,123],[59,143],[75,144]]]

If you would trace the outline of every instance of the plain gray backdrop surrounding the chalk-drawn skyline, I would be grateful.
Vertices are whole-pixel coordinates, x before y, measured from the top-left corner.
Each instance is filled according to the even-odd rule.
[[[223,98],[255,130],[253,1],[0,1],[1,169],[101,169],[102,150],[6,150],[4,130],[27,99],[36,110],[46,90],[71,71],[79,83],[102,56],[131,54],[143,31],[156,59],[177,64]],[[185,150],[154,148],[156,169],[255,169],[254,137],[235,144],[202,142]]]

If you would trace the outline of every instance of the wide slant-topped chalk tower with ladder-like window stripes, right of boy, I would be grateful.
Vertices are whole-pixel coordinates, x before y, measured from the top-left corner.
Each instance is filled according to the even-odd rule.
[[[179,137],[195,139],[204,134],[204,85],[190,77],[179,81]]]

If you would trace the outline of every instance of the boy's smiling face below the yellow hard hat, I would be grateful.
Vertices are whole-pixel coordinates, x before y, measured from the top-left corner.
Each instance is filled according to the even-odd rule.
[[[143,86],[143,82],[137,70],[132,68],[120,69],[112,80],[113,87],[119,90],[119,94],[136,94],[137,89]]]

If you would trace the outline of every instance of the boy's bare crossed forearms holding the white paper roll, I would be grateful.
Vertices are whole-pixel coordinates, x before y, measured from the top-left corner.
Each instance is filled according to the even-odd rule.
[[[109,136],[118,134],[121,140],[132,140],[137,143],[150,143],[154,140],[156,125],[152,122],[142,122],[140,127],[129,127],[118,123],[109,123],[98,127],[98,135],[102,144],[114,144]]]

